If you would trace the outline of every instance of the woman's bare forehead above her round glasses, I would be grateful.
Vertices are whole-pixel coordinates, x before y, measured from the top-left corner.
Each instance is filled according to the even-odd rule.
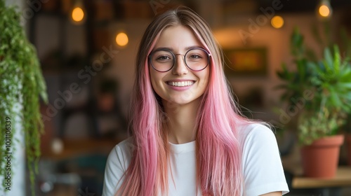
[[[185,50],[185,48],[192,46],[200,47],[199,39],[190,27],[178,25],[164,29],[154,45],[154,49],[171,48],[172,50]]]

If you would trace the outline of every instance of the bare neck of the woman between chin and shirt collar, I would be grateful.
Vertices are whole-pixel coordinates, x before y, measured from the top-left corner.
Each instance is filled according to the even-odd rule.
[[[164,101],[164,109],[168,116],[168,141],[172,144],[194,141],[199,102],[200,99],[180,105]]]

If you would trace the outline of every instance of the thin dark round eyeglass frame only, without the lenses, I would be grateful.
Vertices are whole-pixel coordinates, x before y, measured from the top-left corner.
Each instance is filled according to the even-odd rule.
[[[150,64],[151,64],[152,68],[153,68],[154,70],[156,70],[156,71],[159,71],[159,70],[157,70],[156,68],[154,68],[154,64],[152,64],[152,55],[154,54],[154,52],[157,52],[157,51],[160,51],[160,50],[167,51],[167,52],[170,52],[170,53],[172,54],[172,56],[173,56],[173,64],[172,64],[171,68],[168,69],[167,71],[173,69],[174,64],[176,64],[176,55],[182,55],[182,54],[174,54],[171,50],[168,50],[167,48],[159,48],[159,49],[157,49],[157,50],[154,50],[154,51],[150,52],[150,55],[149,55],[148,59],[149,59],[149,62],[150,62]],[[194,69],[191,69],[190,66],[187,65],[187,61],[185,60],[185,56],[187,55],[187,52],[190,52],[190,50],[203,50],[204,52],[206,52],[207,57],[208,57],[208,58],[207,58],[207,64],[206,64],[206,66],[204,66],[203,69],[194,70]],[[192,70],[192,71],[202,71],[202,70],[206,69],[206,67],[208,66],[208,64],[210,64],[210,57],[212,57],[212,55],[211,55],[210,52],[208,52],[208,51],[205,50],[204,48],[194,47],[194,48],[190,48],[189,50],[187,50],[187,52],[185,52],[185,54],[183,55],[183,57],[184,57],[184,58],[183,58],[183,61],[184,61],[185,66],[187,66],[188,69],[190,69],[190,70]],[[167,72],[167,71],[159,71],[159,72],[164,73],[164,72]]]

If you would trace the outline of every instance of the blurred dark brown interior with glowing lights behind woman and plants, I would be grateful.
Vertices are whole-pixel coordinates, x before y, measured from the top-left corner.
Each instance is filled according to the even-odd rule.
[[[37,47],[48,88],[41,106],[39,195],[102,195],[107,155],[126,139],[135,55],[154,15],[189,6],[213,29],[225,52],[227,79],[244,115],[279,125],[277,139],[291,186],[295,153],[293,118],[279,119],[282,62],[293,67],[290,38],[295,27],[317,55],[323,43],[351,34],[347,0],[35,0],[18,4],[29,40]],[[325,6],[322,9],[321,6]],[[319,39],[318,39],[319,38]],[[341,51],[345,48],[341,48]],[[345,152],[340,153],[340,164]],[[291,188],[291,195],[314,190]],[[350,188],[338,190],[351,195]]]

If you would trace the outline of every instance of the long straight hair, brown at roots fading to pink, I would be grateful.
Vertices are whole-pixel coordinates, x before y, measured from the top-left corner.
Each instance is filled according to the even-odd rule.
[[[197,186],[202,195],[240,195],[241,148],[237,127],[250,123],[243,118],[223,71],[223,52],[207,23],[190,8],[179,7],[158,15],[140,42],[136,78],[131,97],[130,129],[133,157],[117,195],[153,196],[168,193],[169,145],[163,106],[152,89],[147,56],[167,27],[192,29],[211,53],[210,77],[197,116]]]

